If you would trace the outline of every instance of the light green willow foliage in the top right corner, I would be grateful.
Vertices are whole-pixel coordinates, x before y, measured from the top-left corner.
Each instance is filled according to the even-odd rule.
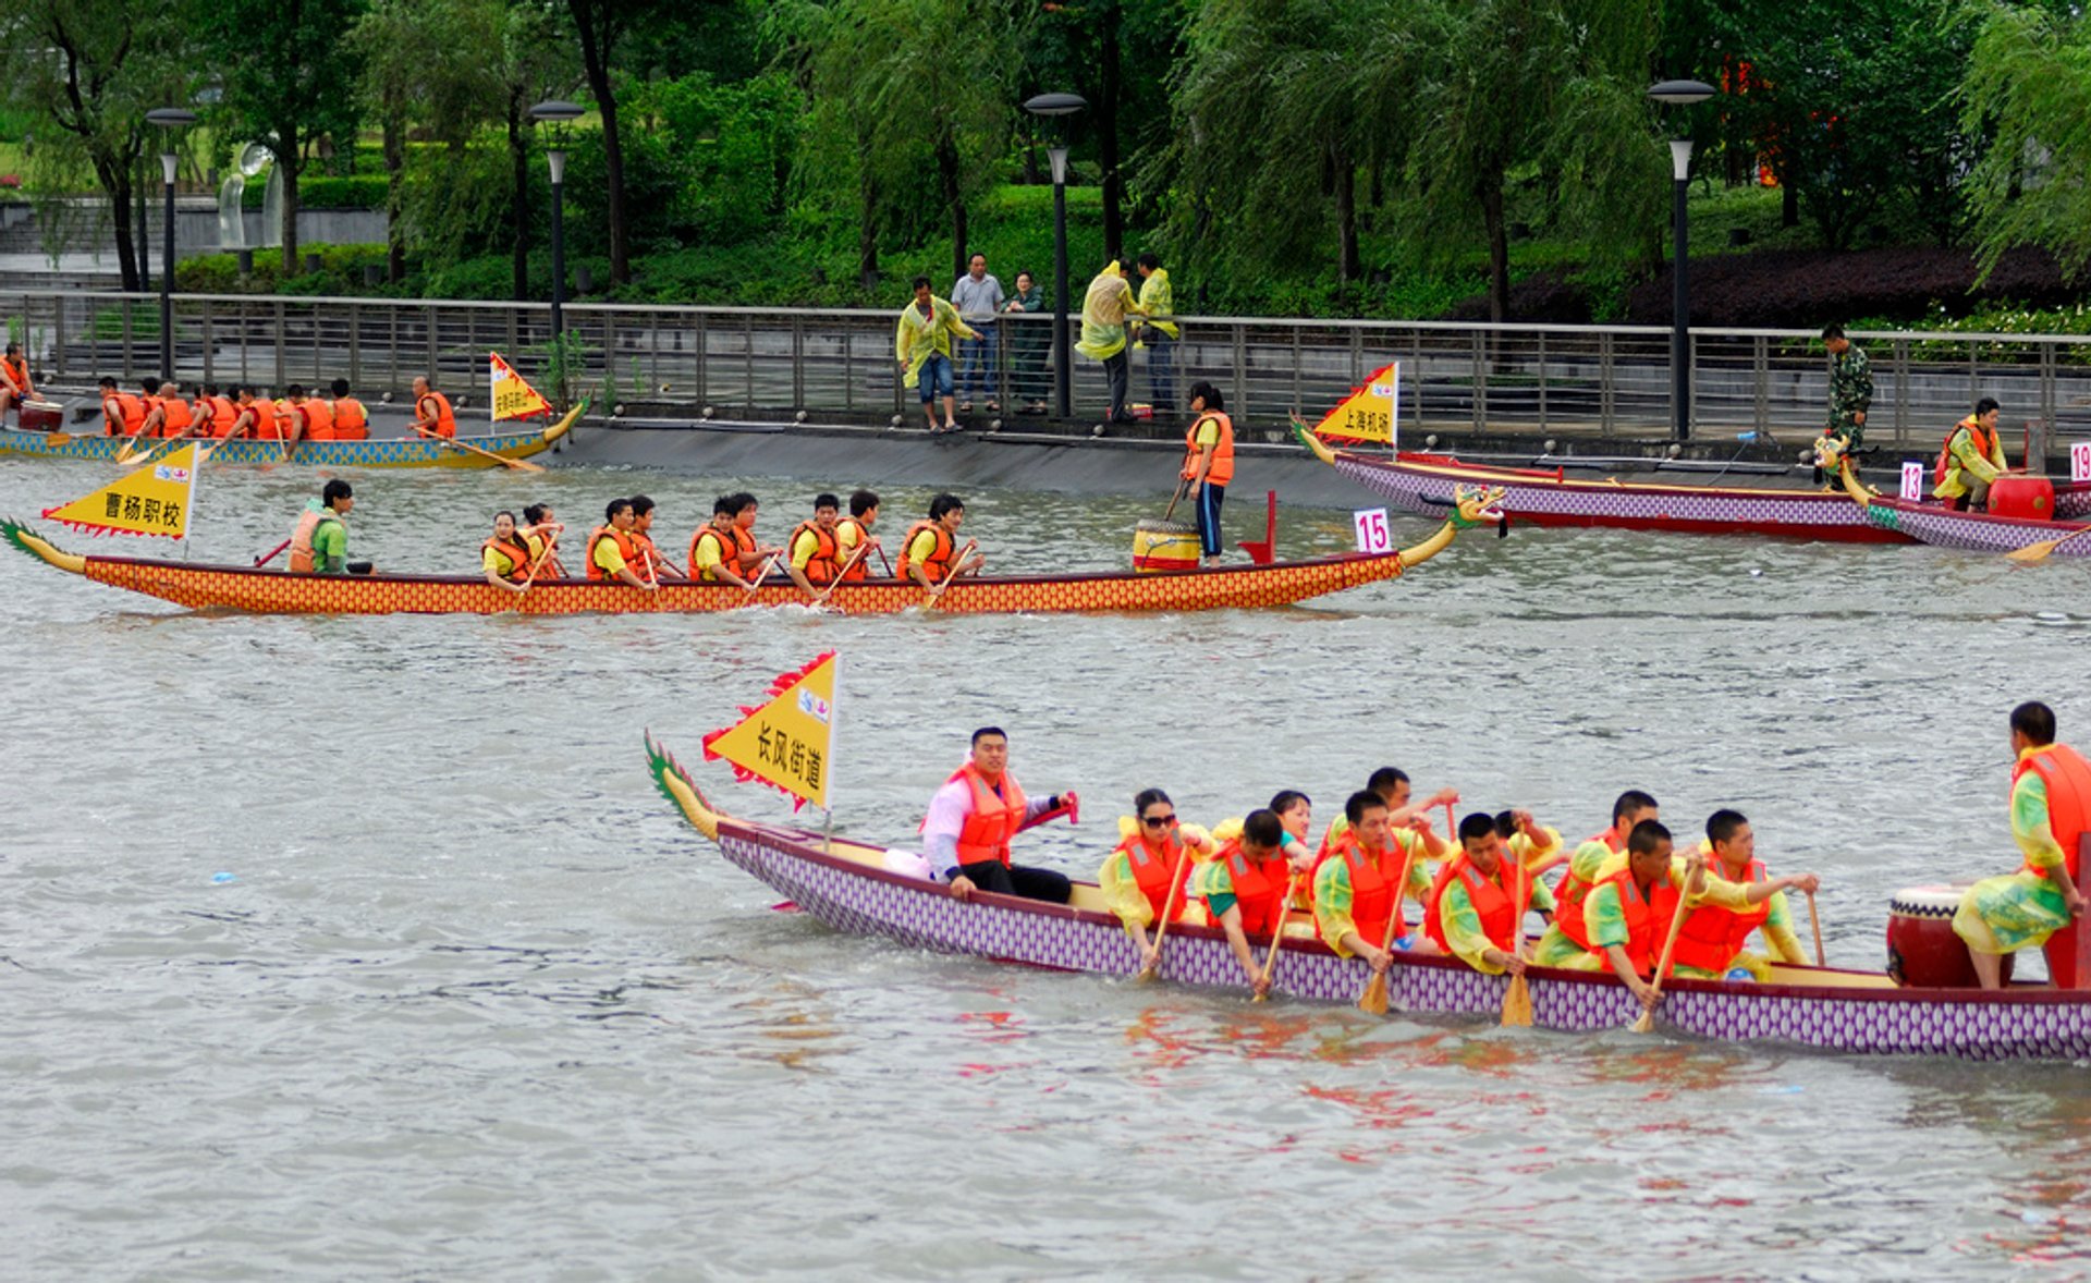
[[[1995,142],[1970,176],[1982,274],[2016,244],[2091,265],[2091,19],[1999,4],[1961,81],[1970,132]]]

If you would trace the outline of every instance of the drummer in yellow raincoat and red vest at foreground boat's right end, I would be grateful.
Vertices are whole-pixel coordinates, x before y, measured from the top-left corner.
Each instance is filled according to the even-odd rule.
[[[2003,986],[2005,953],[2043,949],[2058,988],[2091,986],[2076,953],[2085,894],[2081,848],[2091,830],[2091,765],[2055,742],[2055,710],[2012,708],[2012,838],[2026,857],[2014,873],[1984,878],[1961,896],[1953,932],[1968,942],[1982,988]]]

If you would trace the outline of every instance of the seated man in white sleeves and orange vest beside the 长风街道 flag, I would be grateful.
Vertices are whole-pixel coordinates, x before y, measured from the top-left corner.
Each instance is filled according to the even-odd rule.
[[[1027,798],[1010,775],[1010,736],[1002,727],[972,731],[972,754],[951,771],[928,800],[922,819],[922,855],[951,884],[951,894],[974,890],[1064,905],[1075,894],[1066,873],[1010,863],[1010,838],[1054,815],[1073,815],[1073,792]]]

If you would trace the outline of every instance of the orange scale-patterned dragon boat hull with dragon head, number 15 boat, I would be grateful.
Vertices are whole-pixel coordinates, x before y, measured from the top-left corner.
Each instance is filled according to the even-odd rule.
[[[1217,570],[972,575],[935,600],[947,614],[1066,614],[1144,610],[1223,610],[1290,606],[1324,593],[1395,579],[1445,552],[1462,529],[1501,522],[1495,493],[1462,493],[1453,514],[1428,539],[1384,554],[1340,554]],[[805,593],[780,575],[746,591],[732,583],[625,583],[552,579],[523,593],[493,587],[483,575],[299,575],[255,566],[209,566],[165,558],[115,558],[63,552],[29,527],[0,520],[0,537],[46,566],[109,587],[161,598],[192,610],[263,614],[694,614],[757,606],[805,606]],[[924,606],[926,593],[899,579],[838,583],[826,608],[843,614],[897,614]]]

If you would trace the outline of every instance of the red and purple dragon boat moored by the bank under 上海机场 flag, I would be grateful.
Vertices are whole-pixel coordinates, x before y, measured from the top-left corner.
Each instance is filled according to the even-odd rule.
[[[1744,485],[1641,483],[1606,476],[1585,481],[1562,468],[1501,468],[1462,462],[1449,453],[1401,451],[1395,456],[1334,449],[1303,424],[1294,435],[1324,464],[1384,495],[1407,512],[1439,512],[1455,487],[1489,485],[1506,491],[1518,520],[1539,527],[1608,527],[1679,535],[1773,535],[1834,543],[1911,543],[1907,527],[1882,524],[1855,512],[1838,491],[1802,491]],[[1943,504],[1926,512],[1951,516]],[[2060,516],[2091,516],[2091,485],[2058,485]]]

